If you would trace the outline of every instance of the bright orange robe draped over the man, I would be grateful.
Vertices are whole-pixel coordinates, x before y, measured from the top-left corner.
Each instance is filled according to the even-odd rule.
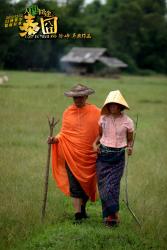
[[[73,104],[64,111],[59,142],[52,145],[52,172],[66,195],[70,190],[65,161],[89,199],[96,199],[96,153],[92,144],[99,133],[99,118],[100,109],[91,104],[83,108]]]

